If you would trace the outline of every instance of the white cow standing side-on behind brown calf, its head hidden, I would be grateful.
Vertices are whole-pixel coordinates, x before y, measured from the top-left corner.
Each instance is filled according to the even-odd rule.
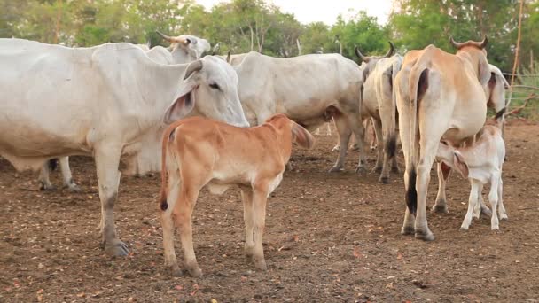
[[[339,159],[330,171],[344,167],[350,129],[363,143],[361,89],[363,74],[354,61],[339,54],[272,58],[251,51],[234,66],[238,93],[249,123],[260,125],[275,113],[285,113],[314,131],[331,120],[340,133]],[[344,147],[343,147],[344,146]],[[357,167],[363,168],[364,152]]]

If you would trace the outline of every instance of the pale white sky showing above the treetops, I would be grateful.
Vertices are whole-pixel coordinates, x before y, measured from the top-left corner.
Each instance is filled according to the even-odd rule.
[[[210,9],[214,4],[228,1],[196,0],[196,2]],[[268,2],[276,4],[283,12],[293,13],[301,23],[322,21],[332,25],[340,13],[348,19],[357,11],[365,11],[369,16],[377,17],[380,24],[386,24],[392,0],[268,0]]]

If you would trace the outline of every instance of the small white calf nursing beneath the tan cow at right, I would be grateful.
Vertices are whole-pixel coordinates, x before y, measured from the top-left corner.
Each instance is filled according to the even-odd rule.
[[[468,201],[468,212],[462,222],[461,229],[467,230],[472,223],[472,217],[479,218],[481,191],[485,183],[490,183],[488,201],[492,206],[490,227],[499,228],[496,207],[499,203],[500,219],[506,220],[504,200],[502,198],[502,166],[505,158],[505,144],[502,132],[495,126],[487,125],[478,134],[476,141],[460,148],[455,148],[441,141],[436,159],[441,160],[451,168],[457,169],[465,178],[470,180],[472,189]]]

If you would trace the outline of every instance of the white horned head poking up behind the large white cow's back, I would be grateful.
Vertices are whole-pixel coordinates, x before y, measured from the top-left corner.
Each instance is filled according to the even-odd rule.
[[[194,35],[168,36],[157,31],[163,39],[170,43],[170,51],[175,63],[189,63],[202,57],[205,51],[211,50],[206,39]]]

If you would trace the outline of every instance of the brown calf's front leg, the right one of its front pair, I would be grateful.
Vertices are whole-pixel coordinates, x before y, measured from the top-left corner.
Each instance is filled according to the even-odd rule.
[[[254,221],[254,267],[266,270],[262,236],[266,226],[266,201],[268,198],[268,184],[258,184],[253,188],[253,221]]]

